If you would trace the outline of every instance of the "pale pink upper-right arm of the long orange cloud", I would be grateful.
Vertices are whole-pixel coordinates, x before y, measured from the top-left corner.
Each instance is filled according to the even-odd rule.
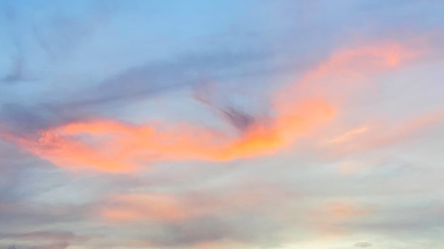
[[[323,62],[309,69],[301,79],[275,97],[275,105],[288,109],[289,103],[301,96],[321,98],[338,103],[372,77],[406,64],[421,51],[399,42],[382,42],[353,49],[334,51]]]

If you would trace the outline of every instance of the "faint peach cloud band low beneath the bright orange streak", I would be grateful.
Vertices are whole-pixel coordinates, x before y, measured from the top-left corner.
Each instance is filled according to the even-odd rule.
[[[183,221],[213,214],[230,215],[252,211],[294,198],[276,185],[260,183],[213,195],[199,192],[181,195],[170,192],[122,193],[107,197],[96,206],[96,214],[113,223],[140,221]],[[280,216],[282,214],[267,214]]]

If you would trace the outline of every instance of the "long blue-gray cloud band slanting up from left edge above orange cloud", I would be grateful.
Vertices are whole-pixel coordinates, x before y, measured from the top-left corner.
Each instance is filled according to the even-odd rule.
[[[136,66],[92,87],[63,95],[60,100],[42,99],[40,103],[3,103],[0,123],[16,134],[35,134],[38,129],[74,120],[87,120],[118,104],[125,106],[169,91],[187,89],[201,83],[204,76],[213,79],[229,76],[226,71],[263,64],[266,54],[260,52],[215,52],[189,54],[172,62]],[[64,94],[64,93],[60,93]],[[1,95],[1,93],[0,93]],[[223,110],[234,125],[248,126],[248,115],[233,108]],[[250,120],[250,121],[249,121]]]

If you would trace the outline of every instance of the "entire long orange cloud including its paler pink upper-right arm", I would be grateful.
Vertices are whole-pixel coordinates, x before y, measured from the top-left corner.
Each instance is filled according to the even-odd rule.
[[[273,96],[270,123],[256,122],[240,137],[186,123],[131,125],[100,119],[41,130],[36,140],[12,134],[3,137],[56,166],[108,172],[128,172],[147,161],[227,161],[270,155],[331,119],[337,100],[350,94],[353,84],[413,56],[396,42],[334,52]]]

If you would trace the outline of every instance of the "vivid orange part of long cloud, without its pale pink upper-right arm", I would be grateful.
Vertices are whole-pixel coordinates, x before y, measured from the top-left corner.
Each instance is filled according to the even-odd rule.
[[[304,101],[292,115],[277,117],[270,127],[253,125],[241,137],[189,124],[129,125],[113,120],[62,125],[40,131],[36,140],[11,134],[4,137],[57,166],[126,172],[146,161],[227,161],[272,154],[332,113],[326,103]]]

